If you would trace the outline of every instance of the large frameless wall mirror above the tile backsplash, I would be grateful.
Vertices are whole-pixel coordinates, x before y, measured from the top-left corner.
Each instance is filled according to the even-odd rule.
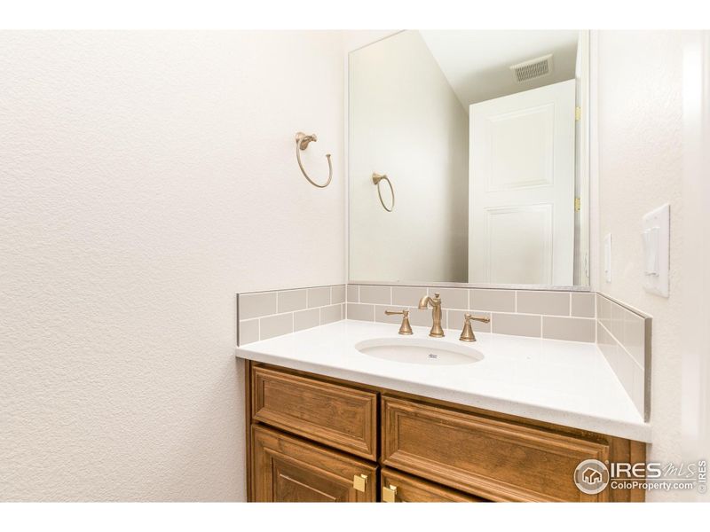
[[[351,282],[588,286],[588,32],[403,31],[349,69]]]

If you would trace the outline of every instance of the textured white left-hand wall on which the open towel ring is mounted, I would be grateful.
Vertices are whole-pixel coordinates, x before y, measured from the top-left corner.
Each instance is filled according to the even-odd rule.
[[[0,500],[245,497],[234,293],[344,281],[343,57],[0,33]]]

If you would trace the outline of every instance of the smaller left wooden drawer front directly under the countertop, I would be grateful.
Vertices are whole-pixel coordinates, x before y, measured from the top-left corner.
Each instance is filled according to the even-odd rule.
[[[377,459],[377,395],[256,366],[252,419]]]

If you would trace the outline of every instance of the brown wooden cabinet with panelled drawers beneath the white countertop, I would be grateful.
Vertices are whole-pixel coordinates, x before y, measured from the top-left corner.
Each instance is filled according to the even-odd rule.
[[[247,364],[250,501],[643,501],[585,495],[581,461],[645,444],[266,364]],[[367,477],[367,479],[366,479]]]

